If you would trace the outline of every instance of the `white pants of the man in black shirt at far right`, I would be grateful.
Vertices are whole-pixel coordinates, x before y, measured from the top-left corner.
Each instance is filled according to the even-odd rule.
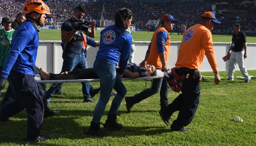
[[[231,51],[231,55],[229,58],[229,71],[227,73],[228,78],[230,80],[234,80],[234,72],[236,70],[236,64],[238,64],[239,69],[242,75],[244,76],[244,79],[251,80],[244,66],[244,51],[241,51],[241,52]]]

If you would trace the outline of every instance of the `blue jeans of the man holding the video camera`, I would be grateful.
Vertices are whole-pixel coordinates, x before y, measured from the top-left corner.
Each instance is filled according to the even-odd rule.
[[[75,68],[76,69],[88,68],[86,58],[84,57],[84,54],[82,52],[80,54],[67,54],[63,52],[62,58],[63,58],[63,65],[62,65],[61,72],[65,72],[65,71],[71,72]],[[81,82],[81,84],[82,84],[83,97],[85,99],[89,98],[90,83]],[[51,87],[48,89],[48,91],[46,92],[46,97],[52,97],[56,89],[58,89],[61,85],[62,83],[60,84],[53,83]]]

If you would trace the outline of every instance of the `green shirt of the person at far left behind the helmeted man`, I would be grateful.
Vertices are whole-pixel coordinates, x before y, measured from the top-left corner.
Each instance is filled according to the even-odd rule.
[[[0,66],[4,66],[5,59],[7,58],[10,50],[7,47],[7,44],[11,48],[11,41],[12,41],[12,35],[14,34],[14,29],[11,29],[9,31],[5,31],[4,28],[0,29]],[[4,37],[7,42],[4,41]]]

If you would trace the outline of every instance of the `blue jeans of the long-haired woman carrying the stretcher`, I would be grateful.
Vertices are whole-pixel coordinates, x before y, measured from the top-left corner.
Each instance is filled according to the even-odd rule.
[[[94,110],[92,122],[99,123],[106,108],[106,104],[110,99],[112,90],[115,89],[117,92],[117,95],[114,97],[109,110],[109,114],[112,115],[117,113],[117,110],[124,99],[127,90],[120,78],[116,77],[116,65],[105,59],[96,58],[93,69],[99,77],[101,93],[99,96],[99,101]]]

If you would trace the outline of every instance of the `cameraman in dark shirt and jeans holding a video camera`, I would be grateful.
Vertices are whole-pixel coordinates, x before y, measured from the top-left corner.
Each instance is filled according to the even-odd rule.
[[[87,61],[84,57],[84,51],[83,51],[83,34],[82,32],[86,33],[91,38],[95,37],[95,26],[96,22],[95,20],[91,22],[90,27],[91,30],[88,29],[89,25],[86,26],[83,20],[85,14],[85,8],[83,6],[77,6],[74,9],[74,13],[70,19],[65,21],[61,26],[61,41],[65,45],[65,49],[62,54],[63,58],[63,65],[61,72],[68,71],[71,72],[73,69],[81,68],[86,69],[87,67]],[[85,30],[84,28],[87,29]],[[81,30],[82,29],[82,30]],[[90,89],[90,83],[89,82],[83,82],[82,84],[82,92],[84,97],[84,102],[94,102],[90,99],[90,93],[89,91],[93,90]],[[48,89],[46,92],[46,98],[50,98],[53,96],[56,89],[58,89],[61,86],[61,84],[52,84],[52,86]]]

